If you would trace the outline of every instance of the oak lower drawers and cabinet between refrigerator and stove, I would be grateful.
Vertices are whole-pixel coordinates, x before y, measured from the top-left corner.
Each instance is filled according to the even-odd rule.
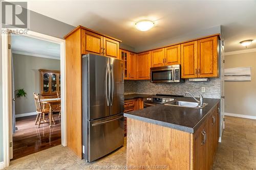
[[[124,101],[124,113],[143,109],[143,98],[130,99]],[[124,117],[124,136],[126,136],[126,117]]]

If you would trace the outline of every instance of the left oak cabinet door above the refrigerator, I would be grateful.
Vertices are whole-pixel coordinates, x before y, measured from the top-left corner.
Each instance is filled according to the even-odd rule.
[[[82,54],[93,53],[97,55],[103,54],[103,37],[86,31],[82,30]]]

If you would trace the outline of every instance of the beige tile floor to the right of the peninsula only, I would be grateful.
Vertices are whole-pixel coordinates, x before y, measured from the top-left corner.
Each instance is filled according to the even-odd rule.
[[[225,116],[214,169],[256,169],[256,120]]]

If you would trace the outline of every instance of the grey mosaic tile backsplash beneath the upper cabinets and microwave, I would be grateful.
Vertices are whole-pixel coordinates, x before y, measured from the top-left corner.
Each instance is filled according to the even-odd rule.
[[[205,87],[205,92],[201,92]],[[125,80],[124,94],[143,93],[143,94],[176,94],[182,95],[185,91],[200,92],[204,98],[220,99],[221,79],[211,78],[207,82],[189,82],[185,83],[151,83],[149,80]],[[196,95],[198,96],[198,95]]]

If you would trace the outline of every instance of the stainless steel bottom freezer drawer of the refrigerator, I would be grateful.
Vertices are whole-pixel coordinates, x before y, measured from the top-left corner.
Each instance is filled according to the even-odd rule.
[[[123,114],[88,121],[88,162],[107,155],[123,145],[123,122]]]

